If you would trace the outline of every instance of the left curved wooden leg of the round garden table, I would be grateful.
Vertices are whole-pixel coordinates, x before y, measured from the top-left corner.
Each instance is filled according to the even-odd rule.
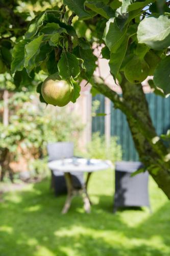
[[[67,185],[67,199],[66,199],[64,207],[62,209],[62,214],[66,214],[67,211],[69,210],[70,205],[71,205],[71,200],[73,197],[73,190],[74,190],[74,187],[72,185],[71,174],[64,173],[64,176],[65,176],[65,181],[66,181],[66,185]]]

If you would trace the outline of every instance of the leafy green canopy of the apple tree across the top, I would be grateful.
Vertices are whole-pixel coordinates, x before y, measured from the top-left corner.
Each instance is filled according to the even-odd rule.
[[[170,93],[167,1],[3,1],[0,7],[0,70],[14,74],[17,87],[42,70],[57,73],[74,87],[75,102],[77,81],[89,81],[96,68],[95,43],[115,80],[122,72],[135,83],[153,75],[155,91]]]

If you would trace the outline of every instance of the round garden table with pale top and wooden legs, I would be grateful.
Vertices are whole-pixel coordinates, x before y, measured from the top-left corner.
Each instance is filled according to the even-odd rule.
[[[112,166],[111,162],[106,160],[98,159],[85,159],[85,158],[69,158],[62,160],[55,160],[48,163],[48,167],[53,169],[54,175],[56,172],[62,172],[65,177],[67,186],[67,199],[65,205],[62,209],[62,214],[66,214],[71,205],[71,200],[74,196],[81,195],[84,201],[84,209],[87,213],[90,212],[91,201],[87,193],[87,185],[89,183],[90,176],[93,172],[98,172],[99,170],[106,170]],[[85,183],[82,185],[81,189],[77,189],[72,184],[71,172],[83,172],[87,173],[87,178]]]

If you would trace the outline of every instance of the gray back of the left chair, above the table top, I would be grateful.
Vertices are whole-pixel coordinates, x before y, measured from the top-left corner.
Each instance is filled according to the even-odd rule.
[[[71,158],[74,156],[74,143],[56,142],[47,144],[48,161]]]

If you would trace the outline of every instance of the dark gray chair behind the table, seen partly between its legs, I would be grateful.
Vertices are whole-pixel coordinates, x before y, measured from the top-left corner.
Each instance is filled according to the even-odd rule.
[[[72,142],[56,142],[47,144],[48,161],[72,158],[74,156],[74,143]],[[55,195],[65,194],[67,187],[65,183],[64,173],[51,169],[52,179],[51,187],[55,191]],[[77,174],[72,172],[71,178],[75,188],[81,188],[84,182],[83,173]]]

